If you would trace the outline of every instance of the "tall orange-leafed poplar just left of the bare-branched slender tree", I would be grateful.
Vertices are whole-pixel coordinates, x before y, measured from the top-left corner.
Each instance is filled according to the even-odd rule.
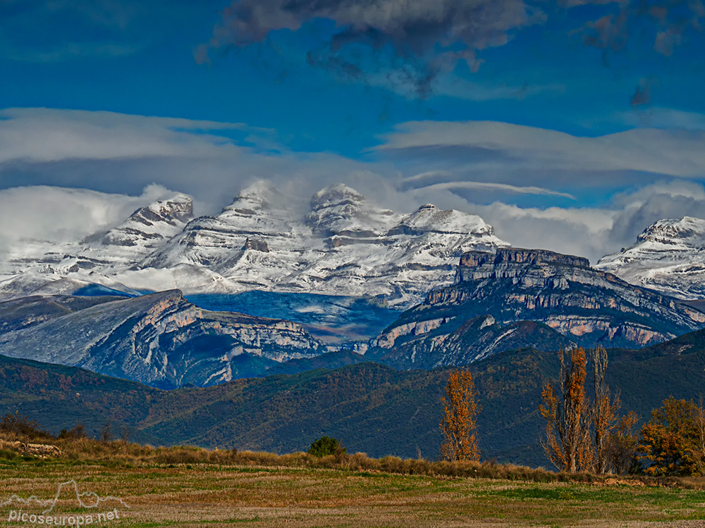
[[[594,465],[590,402],[585,394],[587,354],[584,348],[560,351],[558,391],[549,382],[541,391],[541,416],[546,420],[544,451],[560,470],[576,472]]]

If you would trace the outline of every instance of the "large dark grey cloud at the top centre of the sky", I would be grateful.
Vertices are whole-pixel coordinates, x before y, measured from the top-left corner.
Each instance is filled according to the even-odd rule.
[[[424,95],[437,73],[458,61],[477,70],[477,50],[506,44],[513,31],[542,22],[545,15],[523,0],[236,0],[223,11],[210,46],[263,42],[271,31],[298,30],[317,18],[334,20],[336,32],[328,49],[309,51],[309,63],[357,72],[362,65],[340,53],[347,44],[374,50],[391,46],[405,62],[393,68],[408,75]],[[207,61],[206,49],[197,49],[198,61]]]

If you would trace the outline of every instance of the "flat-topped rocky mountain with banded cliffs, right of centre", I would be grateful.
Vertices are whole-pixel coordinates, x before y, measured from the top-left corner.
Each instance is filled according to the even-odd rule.
[[[484,357],[462,356],[457,343],[486,347],[488,339],[505,331],[503,325],[527,321],[541,327],[522,333],[544,332],[542,339],[535,334],[522,339],[527,345],[543,346],[547,339],[552,346],[559,344],[558,337],[548,337],[552,334],[547,329],[553,329],[563,345],[638,348],[705,327],[705,313],[594,270],[584,258],[513,248],[471,251],[460,260],[456,283],[431,291],[424,303],[403,313],[376,339],[372,353],[391,354],[407,364],[426,364],[431,356],[436,358],[430,360],[433,365],[457,364],[457,358]],[[492,325],[500,325],[499,334],[490,331]],[[485,328],[489,330],[482,332]],[[499,348],[506,349],[506,344],[487,350]]]

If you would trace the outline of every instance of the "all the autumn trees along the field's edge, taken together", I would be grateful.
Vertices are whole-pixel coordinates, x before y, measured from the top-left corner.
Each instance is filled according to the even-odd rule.
[[[637,430],[641,417],[622,409],[605,375],[608,354],[599,346],[558,353],[556,382],[546,382],[538,411],[544,419],[541,446],[565,472],[705,475],[705,407],[702,398],[666,398]],[[587,384],[592,384],[592,397]],[[451,370],[441,400],[443,460],[479,460],[477,415],[481,410],[470,370]]]

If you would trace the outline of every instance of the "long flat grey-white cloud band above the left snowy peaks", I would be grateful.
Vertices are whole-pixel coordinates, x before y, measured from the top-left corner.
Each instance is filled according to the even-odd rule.
[[[197,212],[211,214],[252,180],[295,181],[292,191],[312,194],[331,180],[364,184],[371,178],[360,175],[367,172],[367,165],[349,158],[287,151],[271,130],[243,123],[49,108],[0,111],[0,187],[49,184],[134,195],[157,183],[194,196]]]

